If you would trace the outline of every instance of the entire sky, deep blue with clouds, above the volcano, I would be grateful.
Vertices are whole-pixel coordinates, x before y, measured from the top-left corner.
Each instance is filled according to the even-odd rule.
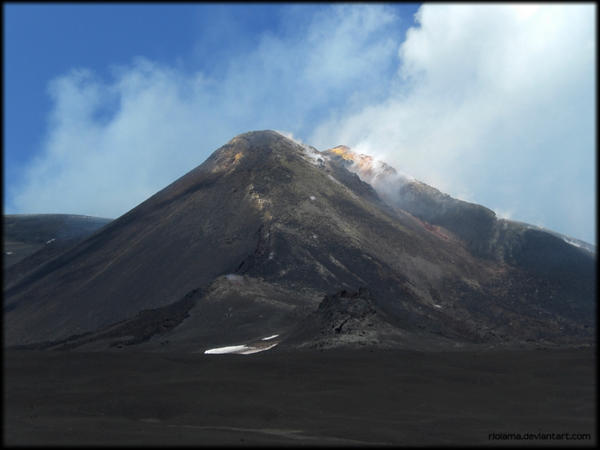
[[[117,217],[236,134],[595,243],[595,4],[4,4],[6,213]]]

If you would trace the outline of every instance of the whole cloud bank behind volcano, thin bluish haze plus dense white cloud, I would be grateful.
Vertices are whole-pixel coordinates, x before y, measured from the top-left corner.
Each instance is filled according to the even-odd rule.
[[[595,5],[428,4],[406,39],[386,5],[289,11],[218,70],[136,58],[53,80],[15,208],[116,217],[268,128],[595,242]]]

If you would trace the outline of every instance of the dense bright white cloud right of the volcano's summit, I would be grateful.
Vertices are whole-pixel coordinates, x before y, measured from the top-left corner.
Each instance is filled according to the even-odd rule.
[[[320,124],[441,190],[594,241],[595,5],[423,5],[393,94]]]

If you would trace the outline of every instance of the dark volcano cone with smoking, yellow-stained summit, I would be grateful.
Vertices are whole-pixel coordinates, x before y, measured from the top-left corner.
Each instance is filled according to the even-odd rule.
[[[274,131],[233,138],[9,286],[5,345],[594,340],[595,253],[359,156]]]

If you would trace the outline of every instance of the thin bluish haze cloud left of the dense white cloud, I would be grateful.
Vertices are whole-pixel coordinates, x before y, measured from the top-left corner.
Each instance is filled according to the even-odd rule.
[[[385,84],[373,66],[393,67],[394,19],[382,5],[287,17],[286,35],[263,34],[253,50],[221,61],[217,78],[136,58],[110,79],[77,69],[53,80],[42,151],[10,187],[16,209],[116,217],[239,133],[301,134],[332,97],[340,105]]]

